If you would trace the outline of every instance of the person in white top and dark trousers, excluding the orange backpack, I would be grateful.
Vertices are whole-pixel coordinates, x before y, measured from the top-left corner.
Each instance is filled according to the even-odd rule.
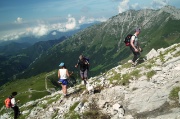
[[[19,102],[19,100],[15,100],[15,96],[17,95],[17,92],[12,92],[10,98],[11,98],[11,105],[12,105],[12,109],[14,110],[14,119],[17,119],[20,115],[20,111],[19,111],[19,107],[17,106],[17,103]]]

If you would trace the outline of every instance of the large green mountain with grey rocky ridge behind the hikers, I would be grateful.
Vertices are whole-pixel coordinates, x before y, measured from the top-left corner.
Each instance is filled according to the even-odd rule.
[[[22,68],[23,72],[21,73],[20,70],[18,72],[11,71],[10,75],[7,75],[8,69],[6,71],[1,68],[0,70],[3,72],[1,77],[2,75],[10,77],[12,73],[19,73],[15,78],[28,78],[58,69],[58,64],[62,61],[70,71],[76,72],[78,70],[74,65],[80,54],[90,59],[89,76],[98,75],[132,58],[131,51],[124,45],[123,40],[127,34],[134,33],[136,27],[141,28],[139,41],[144,49],[142,57],[152,48],[158,49],[180,42],[180,29],[177,27],[180,25],[179,15],[180,10],[171,6],[158,10],[143,9],[123,12],[104,23],[79,31],[66,40],[49,46],[43,52],[41,50],[36,53],[35,49],[40,47],[38,46],[32,51],[29,50],[31,54],[28,55],[21,51],[16,55],[18,58],[14,58],[13,55],[7,59],[2,57],[4,67],[9,65],[5,61],[11,59],[19,64],[26,64],[26,67]],[[34,53],[37,55],[33,61],[30,60],[27,63],[27,59],[23,60],[24,57],[32,57]],[[16,65],[11,63],[11,66]]]

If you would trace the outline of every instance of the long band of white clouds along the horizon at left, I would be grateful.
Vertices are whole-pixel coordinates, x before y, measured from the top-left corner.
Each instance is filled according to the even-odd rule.
[[[34,37],[41,37],[47,35],[53,30],[57,30],[60,32],[67,32],[69,30],[78,29],[79,26],[82,24],[93,23],[96,21],[104,22],[107,19],[104,17],[101,18],[86,18],[82,16],[79,20],[75,19],[71,15],[68,15],[67,21],[61,22],[56,21],[55,23],[47,23],[43,21],[36,21],[32,23],[24,24],[22,22],[22,18],[17,18],[16,23],[21,23],[21,25],[15,24],[13,30],[9,30],[5,33],[1,33],[0,40],[17,40],[19,38],[25,36],[34,36]],[[57,35],[56,32],[52,32],[52,35]]]

